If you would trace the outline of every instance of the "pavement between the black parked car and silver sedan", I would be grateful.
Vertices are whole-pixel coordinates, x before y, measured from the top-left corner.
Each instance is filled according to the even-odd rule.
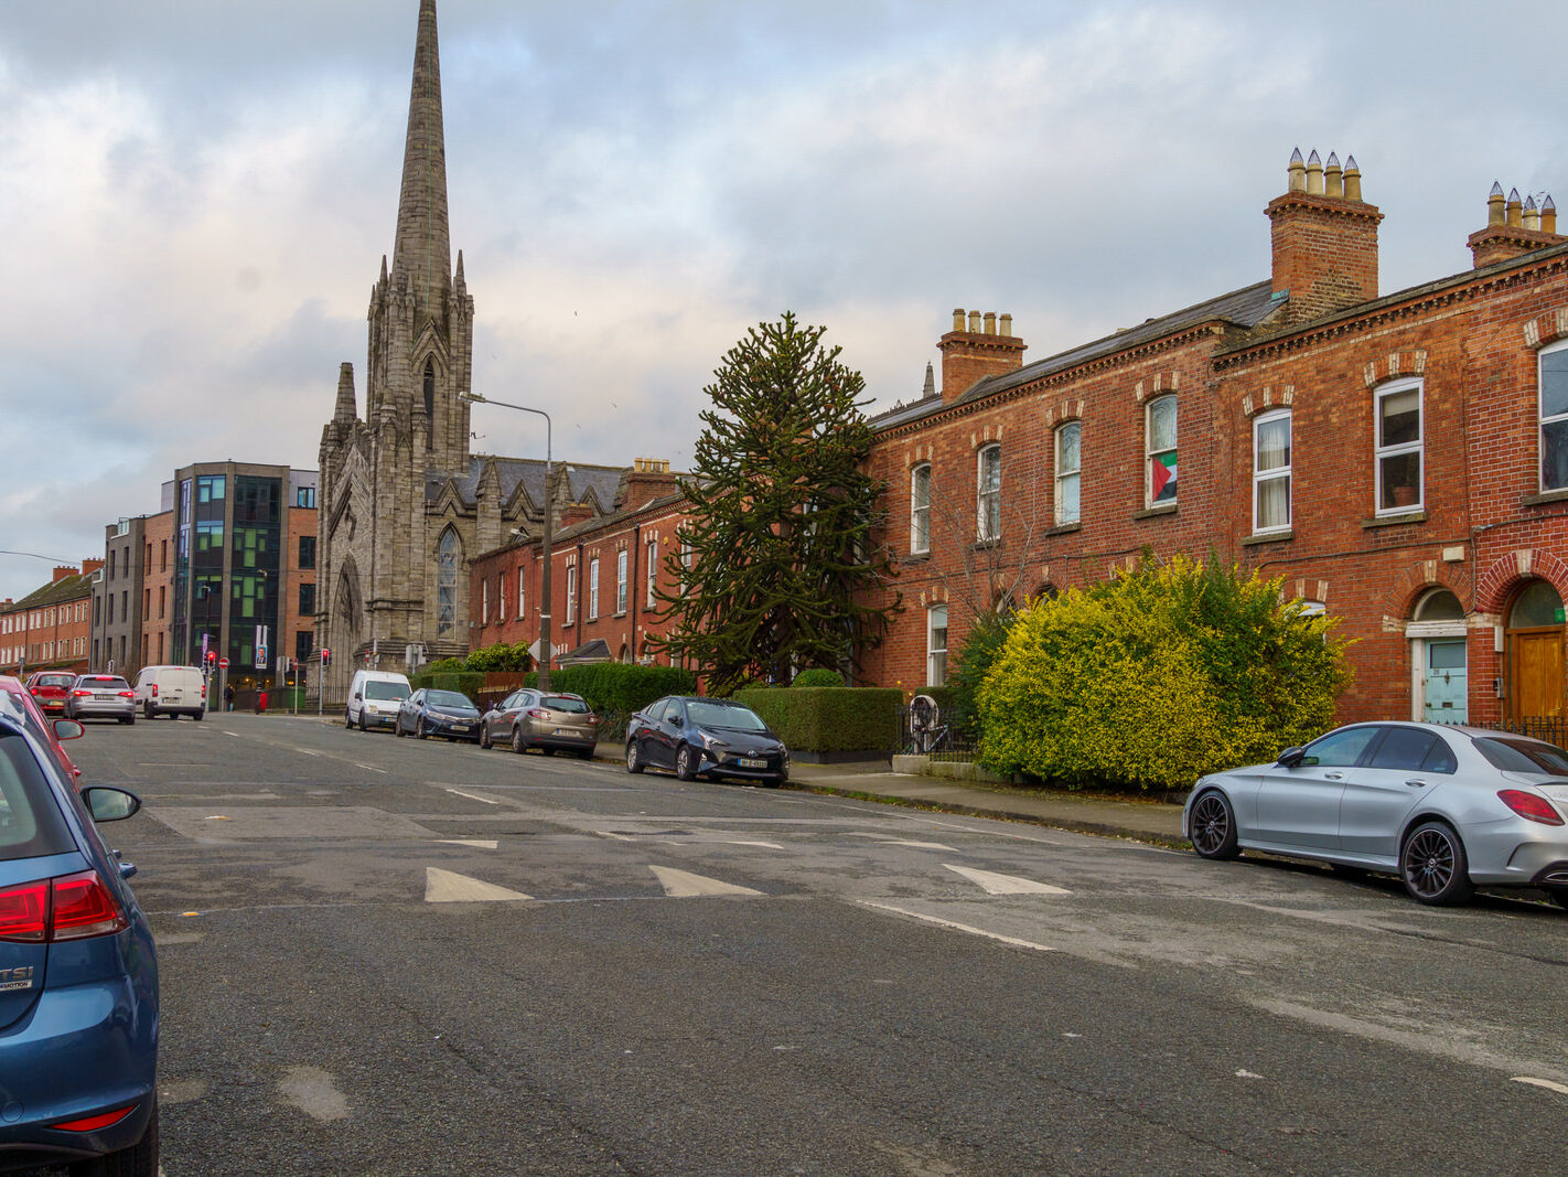
[[[1185,844],[1181,836],[1181,805],[1163,802],[1115,800],[1079,793],[916,777],[892,772],[884,761],[872,764],[797,761],[790,764],[790,786],[944,813],[1025,821],[1079,833]]]

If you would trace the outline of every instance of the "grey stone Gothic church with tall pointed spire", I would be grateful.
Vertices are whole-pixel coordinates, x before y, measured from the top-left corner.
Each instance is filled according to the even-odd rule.
[[[474,298],[461,253],[452,268],[436,0],[419,6],[397,240],[368,319],[364,416],[343,364],[321,430],[315,621],[317,648],[332,651],[331,700],[347,695],[367,654],[405,670],[409,645],[428,661],[467,653],[467,560],[532,537],[546,501],[612,510],[624,476],[557,463],[547,496],[544,461],[469,450],[461,397],[474,377]]]

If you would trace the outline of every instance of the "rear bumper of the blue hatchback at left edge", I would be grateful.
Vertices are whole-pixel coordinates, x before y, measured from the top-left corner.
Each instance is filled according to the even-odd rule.
[[[129,1149],[152,1117],[157,1009],[129,978],[45,989],[0,1031],[0,1171]],[[97,1131],[47,1125],[135,1105]]]

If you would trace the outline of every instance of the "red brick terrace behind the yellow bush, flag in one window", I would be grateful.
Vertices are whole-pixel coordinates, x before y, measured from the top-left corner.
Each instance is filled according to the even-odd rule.
[[[1297,152],[1265,212],[1265,281],[1057,356],[1025,366],[1008,315],[955,311],[941,389],[873,421],[905,610],[870,681],[939,683],[978,610],[1148,548],[1341,617],[1344,719],[1563,714],[1555,207],[1494,187],[1475,267],[1389,295],[1353,159]]]

